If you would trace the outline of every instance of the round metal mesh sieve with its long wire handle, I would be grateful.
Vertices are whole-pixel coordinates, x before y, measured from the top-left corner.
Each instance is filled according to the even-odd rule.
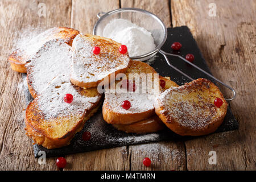
[[[130,59],[133,60],[140,60],[140,61],[145,61],[153,57],[156,53],[161,53],[164,58],[167,61],[167,64],[170,65],[173,69],[175,69],[177,72],[181,73],[185,77],[189,78],[190,80],[194,80],[193,78],[189,77],[187,74],[184,72],[180,71],[176,67],[174,67],[170,61],[168,60],[168,56],[175,56],[179,57],[180,59],[184,60],[186,63],[192,65],[193,67],[199,69],[201,72],[205,73],[209,77],[213,78],[220,84],[224,85],[226,88],[232,90],[233,92],[233,97],[232,98],[225,98],[226,101],[232,101],[234,98],[236,98],[236,91],[231,88],[230,86],[224,84],[224,82],[218,80],[217,78],[213,77],[209,73],[205,72],[203,69],[197,67],[195,64],[189,62],[188,60],[184,59],[184,57],[175,55],[172,53],[167,53],[161,50],[161,47],[163,44],[166,42],[167,39],[167,29],[162,20],[158,18],[158,16],[142,9],[135,9],[135,8],[122,8],[122,9],[117,9],[113,11],[109,11],[108,13],[105,12],[100,12],[97,14],[97,17],[99,18],[96,24],[93,27],[93,35],[99,35],[103,36],[103,31],[106,26],[111,20],[113,19],[127,19],[130,20],[131,22],[137,24],[139,27],[145,28],[147,31],[150,31],[152,34],[152,37],[154,38],[155,46],[156,48],[152,50],[151,52],[148,52],[144,55],[139,55],[139,56],[134,56],[130,57]]]

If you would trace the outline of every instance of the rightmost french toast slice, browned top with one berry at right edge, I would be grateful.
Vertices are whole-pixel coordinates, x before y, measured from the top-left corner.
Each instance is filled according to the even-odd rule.
[[[220,98],[223,104],[214,105]],[[228,104],[213,82],[199,78],[177,88],[167,89],[155,101],[155,112],[166,126],[179,135],[213,133],[222,123]]]

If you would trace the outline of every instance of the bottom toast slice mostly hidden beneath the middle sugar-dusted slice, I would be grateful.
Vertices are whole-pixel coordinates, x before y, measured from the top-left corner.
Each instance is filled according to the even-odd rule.
[[[163,130],[165,127],[164,123],[156,114],[148,119],[131,123],[129,125],[113,124],[112,126],[119,131],[137,134],[155,133],[156,131]]]

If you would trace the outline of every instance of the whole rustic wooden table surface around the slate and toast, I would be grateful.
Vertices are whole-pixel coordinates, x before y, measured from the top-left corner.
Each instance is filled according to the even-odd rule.
[[[39,17],[39,3],[46,5],[46,16]],[[210,3],[216,5],[217,16],[209,16]],[[213,75],[237,90],[230,107],[240,129],[186,141],[68,155],[64,170],[255,170],[255,0],[0,1],[0,169],[57,170],[56,158],[38,163],[23,129],[22,76],[7,61],[17,32],[28,26],[67,26],[92,33],[98,12],[120,7],[148,10],[167,27],[191,29]],[[216,151],[216,165],[209,164],[209,151]],[[152,160],[150,168],[143,166],[144,157]]]

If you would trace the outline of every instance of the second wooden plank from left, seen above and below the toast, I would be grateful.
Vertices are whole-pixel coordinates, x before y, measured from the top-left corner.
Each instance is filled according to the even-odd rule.
[[[100,11],[110,11],[119,8],[119,1],[72,1],[71,27],[92,34],[93,26]],[[72,162],[64,170],[127,170],[126,147],[110,148],[66,156],[67,162]]]

